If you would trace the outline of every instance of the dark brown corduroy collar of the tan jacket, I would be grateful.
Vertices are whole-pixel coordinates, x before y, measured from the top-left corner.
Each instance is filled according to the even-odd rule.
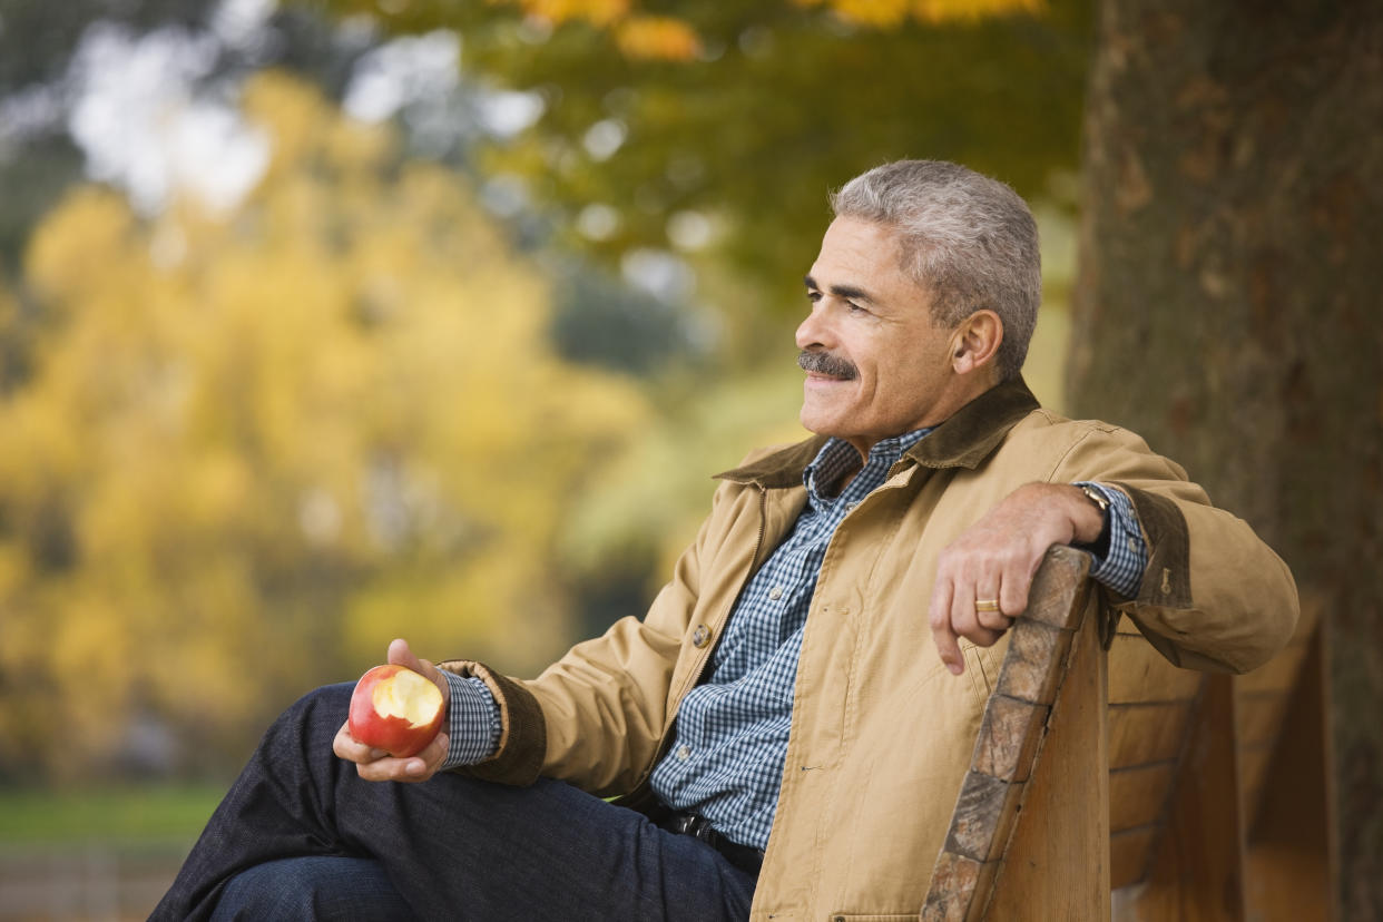
[[[996,384],[907,449],[903,459],[924,467],[978,467],[1008,430],[1037,406],[1037,398],[1021,376]],[[822,451],[827,438],[828,435],[813,435],[715,477],[739,484],[759,484],[769,489],[801,487],[802,471]]]

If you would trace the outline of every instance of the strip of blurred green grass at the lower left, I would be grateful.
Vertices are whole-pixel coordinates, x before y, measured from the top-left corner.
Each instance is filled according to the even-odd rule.
[[[0,789],[0,847],[82,842],[191,842],[224,787]]]

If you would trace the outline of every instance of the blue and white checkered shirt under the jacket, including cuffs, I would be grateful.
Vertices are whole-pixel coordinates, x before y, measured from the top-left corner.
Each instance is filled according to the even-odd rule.
[[[792,532],[750,579],[711,659],[711,677],[678,708],[672,748],[654,767],[662,803],[697,813],[733,842],[768,847],[792,720],[792,690],[806,612],[837,525],[880,487],[903,452],[931,430],[885,438],[837,496],[831,485],[859,466],[859,452],[831,438],[802,478],[808,502]],[[1147,549],[1120,491],[1091,484],[1109,502],[1109,552],[1091,576],[1122,596],[1138,593]],[[452,680],[451,751],[447,766],[494,752],[499,715],[479,679]]]

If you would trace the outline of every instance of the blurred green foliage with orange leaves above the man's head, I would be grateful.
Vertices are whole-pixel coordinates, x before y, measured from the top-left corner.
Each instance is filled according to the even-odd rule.
[[[1087,0],[296,3],[455,29],[467,69],[544,104],[483,171],[611,263],[689,260],[750,364],[801,310],[826,191],[863,166],[954,159],[1075,206]]]

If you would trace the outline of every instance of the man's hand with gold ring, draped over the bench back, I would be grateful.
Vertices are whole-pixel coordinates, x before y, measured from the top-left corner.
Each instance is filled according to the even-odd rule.
[[[1028,589],[1052,545],[1099,538],[1104,517],[1079,487],[1026,484],[940,553],[928,619],[942,662],[965,670],[958,637],[993,646],[1028,608]],[[997,611],[976,611],[997,601]]]

